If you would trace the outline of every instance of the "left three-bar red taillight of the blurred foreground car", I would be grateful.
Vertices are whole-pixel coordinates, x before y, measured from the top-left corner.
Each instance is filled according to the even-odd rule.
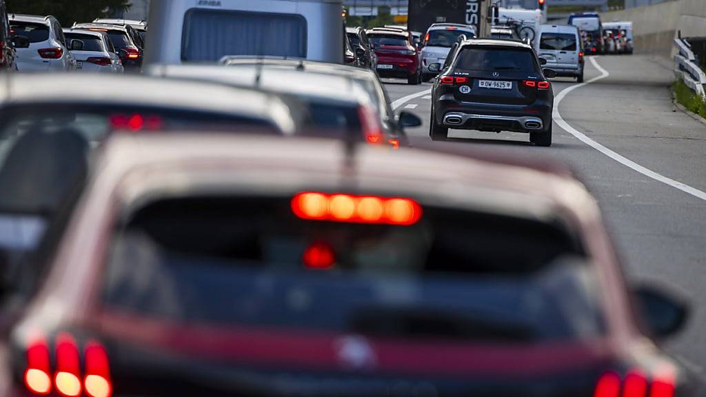
[[[46,340],[36,340],[27,349],[25,386],[32,394],[46,396],[55,388],[64,397],[77,397],[85,391],[89,397],[110,397],[112,384],[108,355],[95,341],[85,344],[84,373],[81,379],[80,353],[78,343],[67,333],[60,333],[55,339],[56,365],[54,377],[49,365],[49,345]]]

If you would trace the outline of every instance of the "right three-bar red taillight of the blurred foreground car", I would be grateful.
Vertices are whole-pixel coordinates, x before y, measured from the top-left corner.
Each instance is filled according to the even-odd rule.
[[[621,393],[622,389],[622,393]],[[650,382],[645,374],[632,369],[621,379],[615,372],[606,372],[599,379],[594,397],[674,397],[674,374],[668,371],[655,375]]]

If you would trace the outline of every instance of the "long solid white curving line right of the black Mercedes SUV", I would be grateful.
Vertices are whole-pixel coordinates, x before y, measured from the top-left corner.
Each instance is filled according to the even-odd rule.
[[[639,165],[637,162],[634,162],[633,160],[629,160],[628,158],[623,157],[622,155],[619,155],[618,153],[614,152],[613,150],[610,150],[609,148],[606,148],[605,146],[601,145],[600,143],[594,141],[593,139],[589,138],[585,134],[580,133],[576,129],[573,128],[573,126],[570,126],[567,122],[564,121],[564,119],[561,117],[561,114],[559,113],[559,103],[561,100],[566,97],[568,93],[571,91],[583,87],[584,85],[588,85],[590,83],[594,83],[596,81],[601,80],[602,78],[606,78],[610,76],[610,73],[606,71],[606,69],[603,69],[598,62],[596,61],[595,57],[590,57],[591,63],[593,66],[598,69],[599,72],[601,72],[601,76],[594,77],[590,79],[589,81],[585,83],[580,83],[576,85],[572,85],[569,88],[564,89],[556,95],[554,98],[554,112],[552,113],[552,118],[554,119],[554,122],[558,124],[564,131],[568,132],[569,134],[575,136],[578,138],[580,141],[583,143],[587,144],[588,146],[591,146],[592,148],[598,150],[599,152],[603,153],[604,155],[608,156],[609,158],[612,158],[613,160],[616,160],[617,162],[620,162],[622,165],[625,165],[626,167],[632,168],[633,170],[640,172],[640,174],[645,175],[645,177],[650,177],[657,182],[662,182],[663,184],[667,184],[671,187],[674,187],[675,189],[679,189],[687,194],[690,194],[696,198],[700,198],[704,201],[706,201],[706,192],[705,191],[700,191],[699,189],[695,189],[688,184],[683,184],[681,182],[675,181],[674,179],[665,177],[662,174],[659,174],[657,172],[654,172],[650,170],[649,168],[642,167],[642,165]]]

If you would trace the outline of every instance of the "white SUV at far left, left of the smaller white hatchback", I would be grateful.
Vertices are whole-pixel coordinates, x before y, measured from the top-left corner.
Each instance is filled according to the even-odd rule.
[[[76,59],[68,51],[68,43],[59,21],[53,16],[10,14],[12,35],[27,37],[28,48],[17,49],[19,71],[73,71]]]

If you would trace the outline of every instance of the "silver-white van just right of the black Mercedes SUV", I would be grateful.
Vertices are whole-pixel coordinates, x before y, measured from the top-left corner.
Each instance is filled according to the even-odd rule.
[[[574,77],[583,83],[584,53],[575,26],[542,25],[539,57],[546,59],[544,67],[556,71],[557,76]]]

